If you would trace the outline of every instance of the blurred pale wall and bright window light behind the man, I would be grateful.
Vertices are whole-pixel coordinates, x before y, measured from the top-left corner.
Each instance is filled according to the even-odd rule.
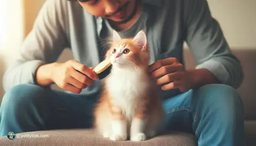
[[[4,95],[2,88],[4,71],[15,58],[15,52],[19,50],[23,39],[33,27],[34,20],[44,2],[45,0],[1,1],[0,103]],[[256,1],[209,0],[208,2],[212,16],[219,21],[231,49],[256,50]]]

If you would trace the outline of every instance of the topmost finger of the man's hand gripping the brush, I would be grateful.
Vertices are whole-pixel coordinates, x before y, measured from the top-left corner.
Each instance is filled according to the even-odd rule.
[[[77,62],[75,60],[71,61],[71,64],[74,69],[78,70],[79,72],[82,72],[82,74],[84,74],[94,80],[98,79],[97,74],[89,67],[86,67],[84,64]]]

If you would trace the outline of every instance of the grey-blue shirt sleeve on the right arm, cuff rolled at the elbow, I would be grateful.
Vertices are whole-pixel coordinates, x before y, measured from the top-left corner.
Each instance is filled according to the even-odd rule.
[[[196,69],[208,69],[221,84],[239,87],[244,76],[241,63],[230,51],[206,0],[186,2],[186,42],[195,56]]]

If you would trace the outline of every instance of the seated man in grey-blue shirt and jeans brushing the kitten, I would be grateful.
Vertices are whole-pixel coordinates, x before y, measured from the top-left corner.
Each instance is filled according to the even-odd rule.
[[[92,127],[101,83],[92,68],[104,59],[113,30],[123,38],[147,34],[165,129],[194,133],[201,146],[245,145],[236,92],[243,70],[205,0],[46,1],[5,72],[0,136]],[[195,69],[185,69],[183,42]],[[57,62],[66,48],[74,60]],[[64,92],[51,90],[52,84]]]

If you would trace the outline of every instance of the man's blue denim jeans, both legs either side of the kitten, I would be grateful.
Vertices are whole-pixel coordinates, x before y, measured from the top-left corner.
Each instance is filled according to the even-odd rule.
[[[61,128],[92,127],[94,97],[18,85],[0,108],[0,136]],[[194,133],[198,145],[245,145],[243,104],[234,88],[206,85],[163,101],[165,129]]]

